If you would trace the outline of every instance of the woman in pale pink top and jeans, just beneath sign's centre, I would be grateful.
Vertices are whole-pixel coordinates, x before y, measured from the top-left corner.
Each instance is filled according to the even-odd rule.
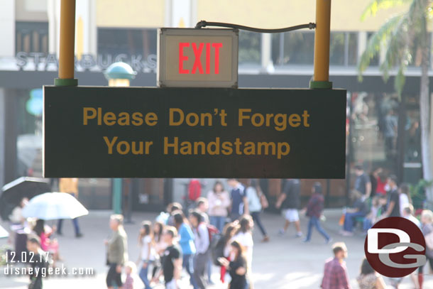
[[[214,189],[207,193],[207,201],[209,202],[210,224],[217,227],[219,231],[223,231],[227,210],[230,207],[230,196],[229,192],[224,190],[222,182],[215,182]]]

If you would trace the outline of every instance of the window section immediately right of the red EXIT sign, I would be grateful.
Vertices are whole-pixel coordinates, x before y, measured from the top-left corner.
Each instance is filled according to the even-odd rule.
[[[260,64],[261,34],[239,31],[239,65]]]

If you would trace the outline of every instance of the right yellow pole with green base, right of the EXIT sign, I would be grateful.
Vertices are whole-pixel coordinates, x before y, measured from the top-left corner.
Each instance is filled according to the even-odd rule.
[[[329,82],[329,37],[331,34],[331,0],[316,0],[314,35],[314,77],[311,88],[332,88]]]

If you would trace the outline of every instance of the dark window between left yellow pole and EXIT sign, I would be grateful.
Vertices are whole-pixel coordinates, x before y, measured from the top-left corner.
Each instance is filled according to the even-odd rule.
[[[156,54],[156,29],[98,28],[98,54]]]

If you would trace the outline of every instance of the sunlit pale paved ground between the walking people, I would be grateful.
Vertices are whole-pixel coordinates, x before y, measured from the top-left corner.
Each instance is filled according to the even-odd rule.
[[[44,280],[45,289],[68,289],[68,288],[105,288],[105,248],[103,239],[110,234],[108,227],[109,212],[91,212],[88,216],[80,218],[80,224],[84,237],[75,239],[73,237],[72,223],[65,222],[64,236],[58,236],[60,253],[64,259],[65,266],[72,270],[77,268],[92,268],[93,276],[62,276]],[[347,267],[353,288],[356,285],[356,276],[363,253],[363,237],[342,237],[337,233],[339,230],[338,219],[341,210],[327,210],[325,216],[327,221],[324,228],[327,229],[334,241],[345,241],[349,249]],[[156,214],[134,213],[135,224],[126,224],[128,233],[129,256],[131,261],[138,257],[138,229],[143,219],[154,219]],[[277,231],[283,224],[283,219],[275,214],[263,214],[263,222],[269,231],[271,240],[267,244],[260,242],[261,236],[258,230],[254,231],[253,251],[253,283],[256,289],[310,289],[319,288],[322,280],[324,260],[331,256],[331,244],[325,245],[322,236],[314,231],[312,242],[303,244],[296,239],[295,230],[290,227],[286,236],[278,236]],[[4,224],[3,224],[4,225]],[[306,231],[307,220],[302,218],[302,229]],[[6,240],[0,240],[0,246]],[[425,269],[427,272],[427,268]],[[136,276],[134,288],[142,289],[143,284]],[[214,268],[214,282],[219,280],[217,268]],[[186,283],[187,280],[185,280]],[[6,277],[3,268],[0,268],[0,288],[27,288],[27,277]],[[161,286],[158,286],[161,288]],[[183,289],[184,287],[182,287]],[[185,288],[188,288],[187,286]],[[225,285],[217,283],[212,289],[226,288]],[[400,289],[412,288],[409,278],[405,278]],[[424,288],[433,288],[433,276],[427,276]]]

